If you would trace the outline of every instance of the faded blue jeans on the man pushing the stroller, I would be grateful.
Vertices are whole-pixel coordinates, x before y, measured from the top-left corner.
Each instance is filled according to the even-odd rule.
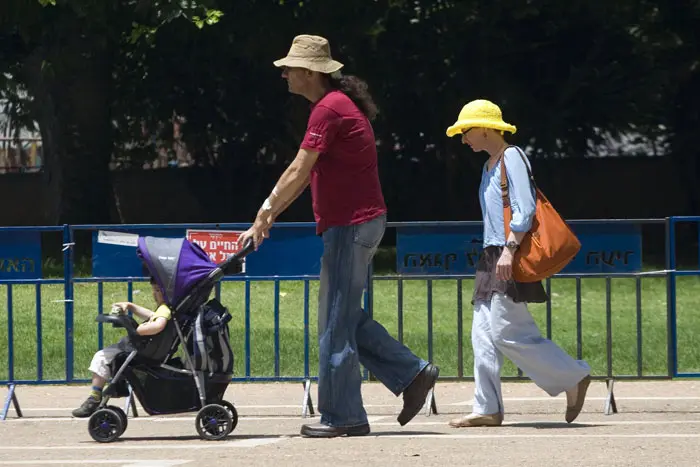
[[[318,410],[321,423],[367,423],[360,364],[396,396],[428,364],[415,356],[362,309],[370,261],[386,228],[382,215],[363,224],[323,233],[318,298]]]

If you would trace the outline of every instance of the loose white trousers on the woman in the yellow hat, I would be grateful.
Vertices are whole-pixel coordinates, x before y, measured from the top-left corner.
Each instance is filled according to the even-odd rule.
[[[556,396],[572,389],[590,373],[590,366],[574,360],[559,346],[542,337],[525,303],[493,294],[491,303],[476,302],[472,322],[474,351],[473,412],[504,412],[501,367],[505,355],[525,375]]]

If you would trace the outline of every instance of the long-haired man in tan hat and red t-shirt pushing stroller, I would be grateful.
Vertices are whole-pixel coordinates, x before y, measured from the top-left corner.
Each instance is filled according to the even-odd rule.
[[[342,76],[319,36],[294,38],[275,62],[289,91],[311,102],[296,158],[277,181],[240,241],[256,248],[274,219],[311,185],[316,231],[323,237],[318,298],[320,423],[303,425],[307,437],[361,436],[370,432],[362,404],[360,363],[396,396],[403,394],[401,425],[420,411],[439,369],[414,355],[370,318],[360,303],[369,264],[386,228],[386,205],[377,171],[370,120],[377,113],[367,85]]]

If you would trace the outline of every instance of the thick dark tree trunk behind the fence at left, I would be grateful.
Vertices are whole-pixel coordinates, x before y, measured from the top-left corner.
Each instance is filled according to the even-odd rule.
[[[68,39],[68,38],[64,38]],[[50,224],[108,223],[111,54],[89,35],[46,41],[25,63],[44,150]]]

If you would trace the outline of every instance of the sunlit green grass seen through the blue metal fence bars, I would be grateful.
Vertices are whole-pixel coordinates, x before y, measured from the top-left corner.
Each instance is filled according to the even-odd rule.
[[[583,279],[581,290],[582,357],[595,375],[607,373],[606,300],[604,279]],[[403,338],[419,356],[428,357],[427,284],[424,280],[404,281]],[[457,281],[433,281],[433,361],[441,366],[441,376],[458,374]],[[8,287],[0,285],[0,303],[6,308]],[[280,374],[299,376],[304,372],[304,289],[302,282],[280,284]],[[463,373],[472,374],[471,352],[472,281],[462,282],[463,305]],[[634,279],[612,279],[612,355],[614,375],[637,373],[637,313]],[[310,371],[316,374],[316,303],[318,284],[309,287]],[[397,283],[375,281],[374,317],[394,336],[398,335]],[[700,296],[700,278],[677,279],[677,328],[679,371],[700,371],[700,318],[696,311]],[[126,284],[104,284],[104,310],[112,302],[125,300]],[[642,279],[642,372],[645,376],[667,374],[666,282],[659,278]],[[43,378],[65,378],[65,326],[63,288],[41,286],[41,324]],[[134,301],[152,306],[150,287],[134,283]],[[231,344],[236,355],[235,375],[245,375],[245,311],[242,283],[224,283],[222,302],[233,315],[230,323]],[[14,379],[37,378],[36,286],[12,286],[14,330]],[[96,284],[76,284],[74,317],[75,378],[87,378],[90,359],[98,348],[98,309]],[[531,305],[542,333],[546,335],[546,306]],[[4,310],[3,310],[4,311]],[[257,282],[251,285],[250,374],[274,375],[274,285]],[[0,324],[0,380],[8,378],[8,341],[6,313]],[[555,342],[576,356],[576,295],[572,279],[552,280],[552,329]],[[116,342],[123,330],[104,327],[104,345]],[[516,375],[506,360],[503,374]]]

